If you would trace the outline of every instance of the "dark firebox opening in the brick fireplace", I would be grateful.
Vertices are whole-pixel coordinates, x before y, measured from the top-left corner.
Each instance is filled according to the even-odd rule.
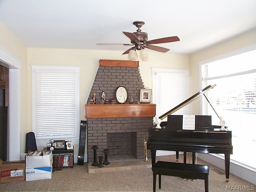
[[[136,132],[108,133],[107,148],[110,160],[123,160],[137,158]]]

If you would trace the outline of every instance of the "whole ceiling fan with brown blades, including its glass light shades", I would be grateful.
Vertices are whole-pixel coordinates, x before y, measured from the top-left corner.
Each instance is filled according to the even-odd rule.
[[[133,24],[138,28],[136,32],[123,32],[130,40],[130,44],[122,44],[124,46],[133,46],[132,48],[126,50],[123,54],[128,54],[128,59],[129,60],[138,60],[138,55],[136,53],[136,50],[140,51],[140,58],[143,61],[148,60],[148,53],[146,52],[145,48],[158,51],[158,52],[168,52],[170,49],[164,48],[164,47],[159,47],[155,46],[152,44],[160,44],[160,43],[169,43],[169,42],[176,42],[179,41],[180,39],[177,36],[171,36],[171,37],[164,37],[164,38],[159,38],[159,39],[154,39],[154,40],[149,40],[148,41],[148,33],[142,32],[141,27],[145,24],[143,21],[135,21]],[[136,59],[137,58],[137,59]]]

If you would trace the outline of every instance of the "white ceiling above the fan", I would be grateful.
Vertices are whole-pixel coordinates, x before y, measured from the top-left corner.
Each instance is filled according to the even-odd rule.
[[[28,47],[125,51],[122,31],[144,21],[148,40],[190,54],[256,28],[256,0],[0,0],[0,21]]]

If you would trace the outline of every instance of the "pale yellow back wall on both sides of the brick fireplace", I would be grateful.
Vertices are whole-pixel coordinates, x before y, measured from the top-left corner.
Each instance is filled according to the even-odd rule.
[[[140,74],[145,87],[152,88],[151,68],[188,69],[188,56],[179,54],[158,54],[150,52],[148,62],[140,62]],[[85,120],[84,104],[90,95],[90,90],[98,70],[100,59],[127,60],[127,54],[122,51],[74,50],[28,48],[27,97],[32,100],[31,65],[75,65],[80,66],[80,120]],[[159,59],[160,58],[160,59]],[[32,103],[28,102],[28,128],[32,130]],[[78,146],[75,146],[75,153]]]

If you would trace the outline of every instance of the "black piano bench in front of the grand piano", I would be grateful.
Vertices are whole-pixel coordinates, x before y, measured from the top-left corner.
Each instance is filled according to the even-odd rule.
[[[208,165],[184,164],[158,161],[152,167],[153,192],[156,192],[156,175],[158,174],[159,189],[161,188],[161,175],[177,176],[182,178],[204,179],[205,192],[208,192]]]

